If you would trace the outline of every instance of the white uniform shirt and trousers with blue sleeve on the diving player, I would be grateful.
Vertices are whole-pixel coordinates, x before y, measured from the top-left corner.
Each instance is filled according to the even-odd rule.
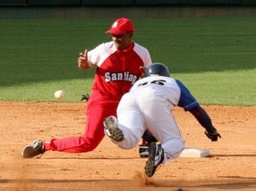
[[[122,149],[134,148],[149,129],[162,143],[164,162],[178,157],[184,149],[184,141],[170,112],[176,105],[186,110],[198,105],[182,82],[162,76],[135,82],[118,105],[118,126],[124,133],[124,140],[117,145]]]

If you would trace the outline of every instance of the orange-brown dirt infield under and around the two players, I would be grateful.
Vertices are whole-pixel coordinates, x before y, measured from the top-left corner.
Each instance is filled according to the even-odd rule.
[[[22,159],[22,148],[35,139],[82,135],[84,107],[0,101],[0,190],[256,190],[256,106],[203,105],[222,134],[218,142],[206,138],[190,113],[174,109],[186,146],[209,149],[211,157],[180,157],[151,178],[138,148],[118,149],[107,137],[90,153]]]

